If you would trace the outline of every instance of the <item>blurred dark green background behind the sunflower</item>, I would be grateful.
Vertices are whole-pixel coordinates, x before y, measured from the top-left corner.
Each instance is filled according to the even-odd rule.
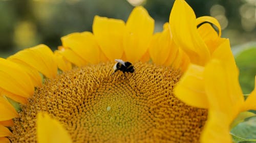
[[[256,1],[187,0],[197,17],[216,17],[222,37],[229,38],[240,68],[244,93],[254,87],[256,74]],[[141,4],[142,3],[142,4]],[[143,5],[155,19],[155,31],[169,19],[174,0],[0,0],[0,56],[44,43],[56,49],[60,37],[73,32],[92,31],[95,15],[126,21],[133,5]],[[250,43],[250,44],[248,44]],[[249,57],[249,58],[248,58]]]

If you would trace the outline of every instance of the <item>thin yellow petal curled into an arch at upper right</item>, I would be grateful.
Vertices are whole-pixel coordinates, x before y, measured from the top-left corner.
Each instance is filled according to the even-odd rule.
[[[219,21],[216,18],[210,17],[210,16],[201,16],[201,17],[198,17],[196,19],[197,25],[199,25],[203,22],[209,22],[209,23],[212,23],[215,26],[217,26],[218,31],[219,31],[219,37],[221,37],[221,25],[220,25]]]

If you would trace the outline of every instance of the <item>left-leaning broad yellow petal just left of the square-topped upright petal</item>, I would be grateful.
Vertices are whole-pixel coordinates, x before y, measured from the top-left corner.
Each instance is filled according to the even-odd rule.
[[[92,33],[72,33],[61,37],[61,41],[64,47],[72,49],[84,61],[91,64],[99,63],[100,50]]]

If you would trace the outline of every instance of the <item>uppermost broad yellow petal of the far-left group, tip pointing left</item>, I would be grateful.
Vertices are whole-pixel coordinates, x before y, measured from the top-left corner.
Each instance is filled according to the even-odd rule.
[[[54,78],[57,75],[57,64],[54,61],[53,52],[44,44],[19,51],[8,59],[21,61],[24,65],[33,67],[48,78]]]

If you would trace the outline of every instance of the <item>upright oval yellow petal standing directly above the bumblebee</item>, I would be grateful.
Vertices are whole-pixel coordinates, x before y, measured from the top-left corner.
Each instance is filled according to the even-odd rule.
[[[154,32],[154,19],[143,7],[136,7],[130,14],[123,37],[123,48],[127,61],[141,59],[147,51]]]

